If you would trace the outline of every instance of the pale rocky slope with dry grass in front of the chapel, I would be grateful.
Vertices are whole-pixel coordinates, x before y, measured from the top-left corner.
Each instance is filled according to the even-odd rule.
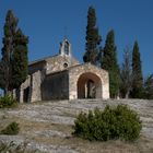
[[[143,128],[138,141],[90,142],[72,137],[75,116],[95,107],[128,104],[141,117]],[[57,101],[22,104],[13,109],[0,109],[0,129],[11,121],[20,123],[17,136],[0,136],[4,142],[13,141],[47,153],[153,153],[153,101]]]

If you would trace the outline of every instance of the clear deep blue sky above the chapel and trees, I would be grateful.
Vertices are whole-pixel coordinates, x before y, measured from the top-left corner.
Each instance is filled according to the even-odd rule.
[[[137,39],[143,73],[153,73],[153,0],[0,0],[0,48],[5,13],[11,9],[30,37],[30,61],[58,54],[67,28],[73,55],[82,62],[90,5],[96,10],[102,45],[114,28],[120,63],[126,46],[132,49]]]

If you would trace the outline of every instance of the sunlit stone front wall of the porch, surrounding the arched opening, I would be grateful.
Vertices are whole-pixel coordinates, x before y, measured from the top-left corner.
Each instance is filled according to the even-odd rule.
[[[102,81],[102,98],[109,98],[108,72],[91,63],[80,64],[69,69],[69,99],[78,98],[78,80],[83,73],[96,74]]]

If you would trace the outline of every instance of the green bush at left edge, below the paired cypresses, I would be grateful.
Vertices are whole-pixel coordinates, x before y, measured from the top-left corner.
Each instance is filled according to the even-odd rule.
[[[0,97],[0,108],[12,108],[16,107],[17,102],[10,95]]]

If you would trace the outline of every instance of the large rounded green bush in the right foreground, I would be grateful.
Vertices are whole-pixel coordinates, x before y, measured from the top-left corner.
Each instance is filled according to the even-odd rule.
[[[102,111],[95,108],[89,114],[81,113],[74,121],[76,137],[89,140],[107,141],[121,139],[133,141],[139,138],[142,125],[138,114],[126,105],[115,108],[106,106]]]

